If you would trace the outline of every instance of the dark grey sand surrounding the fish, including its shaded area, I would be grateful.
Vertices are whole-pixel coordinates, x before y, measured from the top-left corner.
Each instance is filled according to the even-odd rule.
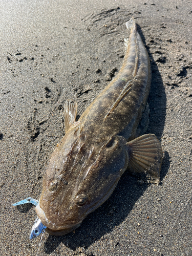
[[[190,5],[190,6],[189,6]],[[65,134],[63,104],[80,116],[119,71],[132,15],[152,64],[150,124],[164,160],[159,185],[124,173],[75,231],[46,232],[38,255],[192,255],[192,4],[189,1],[1,1],[0,255],[36,255],[29,240],[47,159]],[[141,32],[142,30],[142,32]],[[98,71],[99,70],[99,71]]]

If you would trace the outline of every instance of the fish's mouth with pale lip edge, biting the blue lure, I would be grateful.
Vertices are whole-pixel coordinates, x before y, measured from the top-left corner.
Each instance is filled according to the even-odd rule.
[[[62,232],[62,234],[69,233],[79,227],[82,223],[82,220],[80,220],[78,223],[75,221],[66,222],[65,224],[57,225],[56,223],[49,221],[48,218],[45,215],[44,210],[40,208],[39,203],[35,207],[36,214],[38,218],[41,220],[42,224],[44,224],[47,228],[46,230],[52,234],[56,232]],[[61,234],[55,234],[55,236],[61,236]]]

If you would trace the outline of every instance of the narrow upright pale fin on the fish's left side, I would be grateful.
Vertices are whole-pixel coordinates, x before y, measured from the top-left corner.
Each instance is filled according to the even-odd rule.
[[[71,125],[74,124],[76,115],[77,115],[77,102],[72,100],[67,100],[67,102],[65,103],[65,110],[64,110],[66,133],[70,129]]]

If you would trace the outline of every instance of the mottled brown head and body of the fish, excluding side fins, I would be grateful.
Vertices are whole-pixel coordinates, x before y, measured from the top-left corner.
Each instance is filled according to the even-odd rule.
[[[70,126],[49,159],[36,207],[48,232],[71,232],[112,194],[129,165],[126,143],[136,136],[150,83],[150,60],[133,20],[118,75]]]

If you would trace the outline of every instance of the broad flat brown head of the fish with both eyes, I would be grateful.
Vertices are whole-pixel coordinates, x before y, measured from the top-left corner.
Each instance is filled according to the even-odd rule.
[[[88,146],[86,135],[63,137],[50,157],[36,206],[49,233],[73,231],[109,198],[127,166],[122,140],[116,136]]]

